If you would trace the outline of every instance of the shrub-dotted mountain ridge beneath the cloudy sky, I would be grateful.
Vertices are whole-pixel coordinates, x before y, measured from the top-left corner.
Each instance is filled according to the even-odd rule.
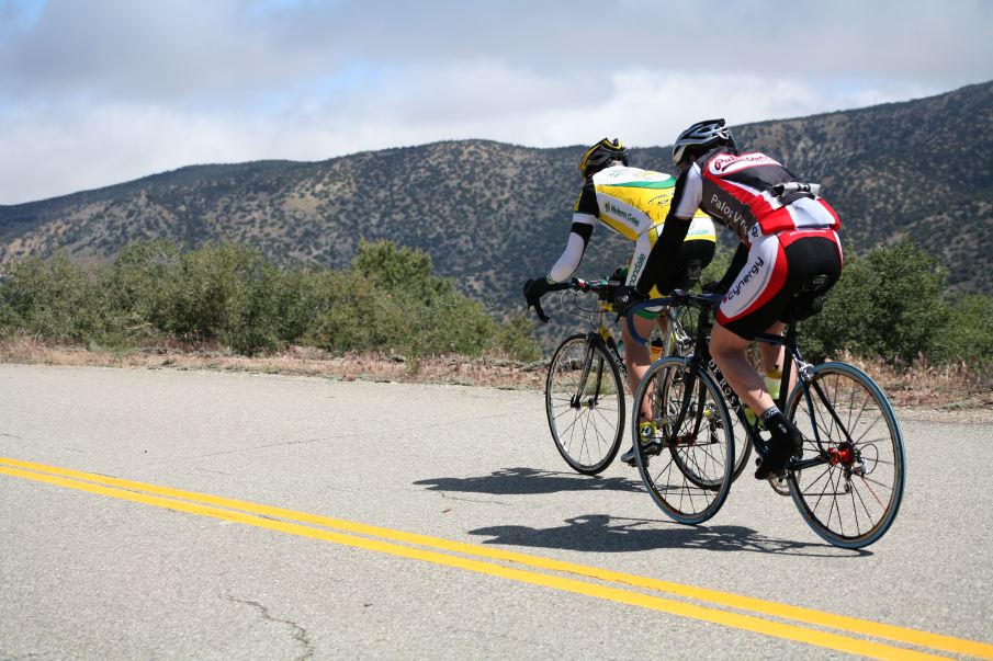
[[[911,238],[947,264],[955,288],[993,294],[993,82],[733,128],[742,147],[822,184],[846,248]],[[128,241],[159,238],[343,267],[359,241],[388,239],[426,251],[439,275],[507,312],[520,309],[523,280],[548,272],[565,246],[585,149],[442,140],[323,161],[185,166],[0,206],[0,267],[59,250],[106,262]],[[672,172],[669,155],[632,148],[631,164]],[[629,254],[599,228],[577,274],[602,275]]]

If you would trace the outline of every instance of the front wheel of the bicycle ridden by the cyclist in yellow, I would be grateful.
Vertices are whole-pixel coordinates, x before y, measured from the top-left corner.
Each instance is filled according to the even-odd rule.
[[[610,466],[624,433],[624,384],[613,358],[595,338],[567,338],[545,379],[549,430],[558,454],[577,472]]]

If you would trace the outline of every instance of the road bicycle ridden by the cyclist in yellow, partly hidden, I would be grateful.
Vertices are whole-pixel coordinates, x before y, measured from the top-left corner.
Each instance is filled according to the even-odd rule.
[[[630,381],[621,347],[607,323],[613,312],[613,293],[621,284],[612,278],[573,278],[549,288],[563,292],[562,307],[590,326],[589,331],[558,344],[545,378],[545,411],[555,447],[565,463],[583,475],[597,475],[610,466],[624,435],[624,384]],[[596,299],[584,294],[594,294]],[[535,314],[543,321],[549,319],[540,301]],[[667,316],[668,330],[651,341],[652,354],[684,355],[692,347],[685,328],[691,320],[682,308],[669,308]],[[744,434],[738,437],[747,442]]]

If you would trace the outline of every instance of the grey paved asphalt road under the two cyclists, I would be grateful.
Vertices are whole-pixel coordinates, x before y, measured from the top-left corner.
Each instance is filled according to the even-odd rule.
[[[542,406],[0,365],[0,658],[993,658],[993,428],[904,421],[855,552],[751,479],[672,523],[622,465],[568,472]]]

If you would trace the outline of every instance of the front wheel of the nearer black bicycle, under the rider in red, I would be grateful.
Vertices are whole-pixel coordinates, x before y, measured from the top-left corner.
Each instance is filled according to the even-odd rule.
[[[734,436],[721,391],[689,358],[668,357],[652,365],[634,401],[635,411],[648,414],[654,433],[632,432],[637,470],[652,500],[679,523],[707,521],[724,504],[734,467]]]

